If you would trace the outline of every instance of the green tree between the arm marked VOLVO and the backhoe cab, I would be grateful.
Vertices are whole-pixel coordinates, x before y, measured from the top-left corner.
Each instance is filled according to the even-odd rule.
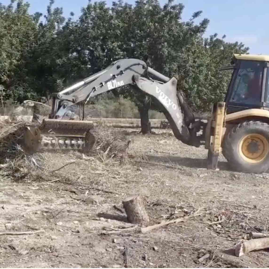
[[[249,48],[237,42],[225,42],[225,36],[200,37],[185,49],[176,78],[178,88],[195,112],[211,110],[211,105],[224,100],[231,72],[220,71],[229,65],[233,53],[247,53]]]

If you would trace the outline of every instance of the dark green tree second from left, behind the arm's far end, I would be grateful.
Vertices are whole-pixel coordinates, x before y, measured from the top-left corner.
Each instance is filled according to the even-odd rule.
[[[29,51],[23,55],[20,66],[20,79],[30,88],[36,89],[38,96],[46,96],[61,88],[61,61],[66,57],[62,50],[60,30],[65,22],[62,8],[52,8],[54,0],[49,1],[45,21],[39,21],[42,14],[34,16],[36,34]]]

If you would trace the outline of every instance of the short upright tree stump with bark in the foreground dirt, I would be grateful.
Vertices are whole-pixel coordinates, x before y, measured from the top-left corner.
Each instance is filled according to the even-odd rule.
[[[143,225],[149,222],[147,211],[139,194],[125,198],[122,204],[130,223]]]

